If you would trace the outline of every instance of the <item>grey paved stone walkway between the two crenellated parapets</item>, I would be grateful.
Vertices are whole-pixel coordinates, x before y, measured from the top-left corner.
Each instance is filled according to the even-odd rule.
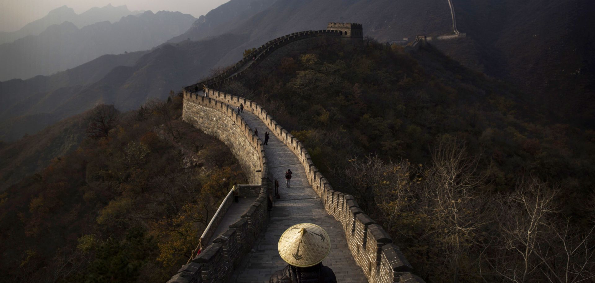
[[[246,123],[264,140],[264,132],[268,130],[264,122],[256,115],[246,111],[242,114]],[[271,211],[271,219],[267,232],[252,247],[242,266],[234,273],[231,282],[267,283],[271,274],[287,265],[277,250],[277,241],[283,231],[299,223],[313,223],[324,228],[331,238],[331,251],[322,262],[333,269],[337,282],[368,282],[362,269],[356,265],[347,249],[347,240],[341,224],[328,215],[322,207],[320,199],[308,184],[306,172],[297,156],[293,154],[276,136],[270,135],[266,147],[271,178],[279,180],[281,199],[275,202]],[[285,187],[285,171],[293,171],[291,187]]]

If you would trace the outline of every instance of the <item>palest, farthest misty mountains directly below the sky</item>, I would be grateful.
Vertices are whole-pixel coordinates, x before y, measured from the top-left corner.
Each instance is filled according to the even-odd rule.
[[[73,23],[52,25],[38,36],[27,36],[0,45],[0,79],[29,78],[88,62],[104,54],[150,49],[189,29],[195,21],[181,12],[151,11],[128,15],[120,21],[90,24],[78,29]]]

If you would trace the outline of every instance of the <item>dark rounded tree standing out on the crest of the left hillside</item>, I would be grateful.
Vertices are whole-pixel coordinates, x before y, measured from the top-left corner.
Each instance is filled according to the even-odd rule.
[[[115,109],[114,105],[100,104],[95,106],[89,115],[87,135],[94,139],[108,137],[109,130],[115,127],[119,116],[120,112]]]

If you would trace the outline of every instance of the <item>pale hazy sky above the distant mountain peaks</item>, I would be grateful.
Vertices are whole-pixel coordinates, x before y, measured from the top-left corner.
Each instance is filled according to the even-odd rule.
[[[12,32],[67,5],[80,14],[92,7],[127,5],[128,10],[180,11],[198,18],[229,0],[0,0],[0,31]]]

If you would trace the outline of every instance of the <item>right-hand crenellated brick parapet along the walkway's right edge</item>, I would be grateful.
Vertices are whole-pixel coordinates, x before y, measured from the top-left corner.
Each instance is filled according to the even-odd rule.
[[[252,100],[217,90],[206,89],[206,93],[209,98],[231,106],[237,107],[243,103],[245,111],[257,115],[267,125],[271,133],[283,141],[299,158],[308,175],[309,184],[320,197],[327,213],[341,222],[345,229],[349,250],[369,282],[400,282],[404,275],[408,275],[406,282],[423,282],[417,276],[409,276],[412,267],[399,247],[393,244],[389,234],[359,208],[353,196],[341,193],[331,187],[328,180],[312,163],[303,144],[273,120],[273,117],[265,109]]]

